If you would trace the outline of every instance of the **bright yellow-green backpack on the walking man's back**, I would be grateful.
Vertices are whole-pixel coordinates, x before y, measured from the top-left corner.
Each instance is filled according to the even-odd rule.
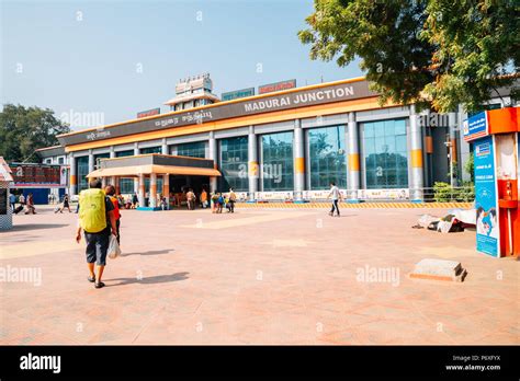
[[[84,189],[79,194],[79,221],[88,233],[99,233],[106,228],[105,194],[101,189]]]

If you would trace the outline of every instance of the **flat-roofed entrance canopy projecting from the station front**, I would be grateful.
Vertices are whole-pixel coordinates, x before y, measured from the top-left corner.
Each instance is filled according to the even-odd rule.
[[[213,160],[150,153],[103,159],[100,161],[100,168],[90,172],[87,177],[134,177],[151,174],[221,176]]]

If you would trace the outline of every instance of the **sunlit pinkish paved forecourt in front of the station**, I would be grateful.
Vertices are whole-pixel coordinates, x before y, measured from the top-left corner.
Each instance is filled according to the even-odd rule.
[[[423,212],[443,215],[124,211],[126,255],[99,290],[76,215],[15,216],[0,270],[42,278],[0,282],[0,344],[520,344],[519,263],[477,254],[474,232],[410,229]],[[426,257],[468,276],[409,279]]]

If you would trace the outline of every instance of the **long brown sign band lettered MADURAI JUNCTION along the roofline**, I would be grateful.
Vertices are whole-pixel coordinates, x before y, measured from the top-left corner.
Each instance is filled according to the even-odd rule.
[[[58,137],[61,146],[99,141],[132,134],[148,132],[163,128],[189,126],[207,122],[223,120],[231,117],[249,116],[290,108],[313,106],[332,102],[351,101],[376,93],[369,90],[368,81],[337,83],[329,86],[302,89],[283,94],[272,94],[242,102],[213,104],[193,111],[166,114],[143,120],[131,120],[114,127],[100,127],[95,130],[79,131]]]

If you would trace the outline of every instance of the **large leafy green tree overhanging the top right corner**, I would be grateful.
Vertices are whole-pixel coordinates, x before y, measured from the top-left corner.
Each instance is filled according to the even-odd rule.
[[[520,66],[518,0],[315,0],[298,33],[310,58],[355,57],[380,102],[477,111]]]

